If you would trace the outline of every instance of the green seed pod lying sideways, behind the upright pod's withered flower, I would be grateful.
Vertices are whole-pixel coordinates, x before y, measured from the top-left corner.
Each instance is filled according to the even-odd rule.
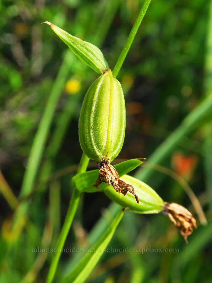
[[[117,193],[113,186],[106,184],[107,187],[104,193],[112,201],[123,207],[128,207],[134,212],[143,214],[159,213],[163,209],[164,202],[162,198],[150,186],[129,175],[123,175],[121,180],[133,186],[139,198],[139,204],[135,201],[135,197],[131,193],[127,192],[126,196],[124,196]]]

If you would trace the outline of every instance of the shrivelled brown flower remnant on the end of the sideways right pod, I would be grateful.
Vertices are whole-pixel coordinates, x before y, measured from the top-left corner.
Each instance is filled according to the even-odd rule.
[[[193,215],[186,208],[177,203],[167,203],[163,212],[180,230],[181,235],[188,244],[187,237],[191,235],[193,228],[197,229],[196,220]]]

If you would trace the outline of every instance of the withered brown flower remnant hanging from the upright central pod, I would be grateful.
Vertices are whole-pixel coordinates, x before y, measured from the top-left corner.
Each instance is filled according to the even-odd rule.
[[[95,188],[98,190],[101,187],[99,185],[104,182],[108,183],[109,186],[113,186],[118,193],[122,193],[124,196],[129,191],[135,196],[137,203],[139,204],[139,198],[136,196],[133,186],[126,184],[124,181],[119,179],[118,172],[116,169],[108,162],[108,159],[102,160],[99,164],[99,176],[94,184]]]

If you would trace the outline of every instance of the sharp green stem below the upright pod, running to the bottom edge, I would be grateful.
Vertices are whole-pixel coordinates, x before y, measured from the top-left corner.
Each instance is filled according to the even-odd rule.
[[[80,159],[80,163],[79,163],[79,167],[77,170],[77,174],[85,172],[87,169],[89,163],[89,158],[83,153],[82,157]],[[52,280],[54,279],[54,275],[57,269],[57,264],[58,261],[60,259],[60,255],[61,255],[61,251],[63,249],[65,240],[68,236],[68,231],[70,230],[72,221],[73,221],[73,217],[76,213],[77,207],[78,207],[78,203],[79,203],[79,199],[80,199],[80,195],[81,193],[74,187],[73,188],[73,193],[72,193],[72,197],[68,206],[68,212],[66,214],[66,218],[63,224],[63,228],[60,232],[60,236],[59,239],[57,241],[56,247],[55,249],[57,250],[57,252],[54,253],[53,258],[52,258],[52,262],[49,268],[49,272],[47,275],[47,279],[46,279],[46,283],[51,283]]]

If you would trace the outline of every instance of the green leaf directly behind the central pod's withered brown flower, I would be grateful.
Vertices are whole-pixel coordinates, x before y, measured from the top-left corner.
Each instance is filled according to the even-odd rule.
[[[124,174],[127,174],[128,172],[132,171],[136,167],[138,167],[140,164],[144,162],[145,158],[135,158],[130,159],[124,162],[121,162],[119,164],[114,165],[114,168],[117,170],[119,176],[121,177]],[[98,177],[99,170],[91,170],[87,171],[81,174],[78,174],[72,178],[72,184],[73,186],[76,186],[76,188],[83,192],[96,192],[96,188],[93,186],[97,177]],[[102,183],[101,189],[98,191],[104,191],[104,189],[107,188],[107,184]]]

